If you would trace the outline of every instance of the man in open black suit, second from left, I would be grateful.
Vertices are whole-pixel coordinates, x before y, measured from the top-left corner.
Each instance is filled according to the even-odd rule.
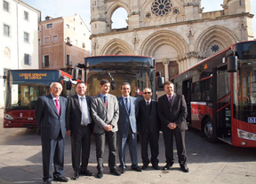
[[[72,167],[74,169],[73,180],[79,178],[79,174],[92,176],[87,169],[90,157],[92,118],[91,96],[86,96],[86,84],[84,81],[76,83],[76,95],[68,97],[66,112],[66,128],[68,136],[71,136]],[[80,157],[82,149],[82,164]]]

